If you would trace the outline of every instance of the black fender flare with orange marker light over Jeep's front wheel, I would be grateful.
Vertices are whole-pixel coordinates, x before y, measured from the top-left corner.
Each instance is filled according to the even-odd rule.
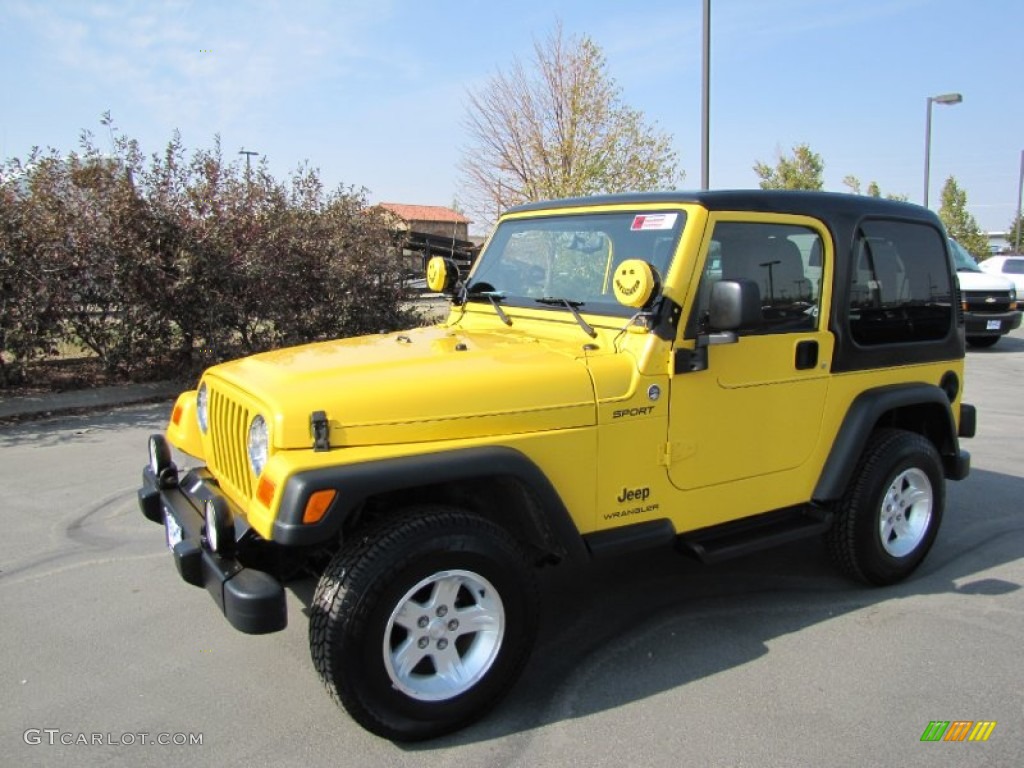
[[[528,457],[501,445],[457,449],[418,456],[343,464],[298,472],[290,477],[273,522],[272,540],[285,546],[309,546],[336,539],[345,520],[373,496],[480,477],[509,476],[527,487],[544,514],[542,538],[554,539],[569,558],[587,558],[587,548],[561,497]],[[317,490],[338,495],[316,523],[303,523],[302,512]],[[526,513],[524,513],[526,514]],[[528,516],[528,515],[527,515]],[[536,524],[536,521],[530,521]]]

